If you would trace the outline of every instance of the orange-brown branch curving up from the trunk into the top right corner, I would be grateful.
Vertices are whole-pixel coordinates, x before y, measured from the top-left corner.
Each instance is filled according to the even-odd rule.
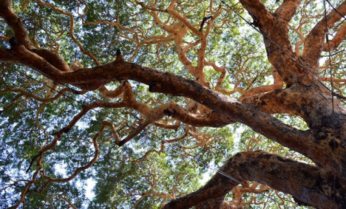
[[[345,15],[346,14],[346,1],[338,5],[336,8],[338,12]],[[330,29],[334,23],[342,18],[338,12],[332,10],[330,14],[327,15],[328,29]],[[327,28],[325,27],[325,17],[319,20],[319,23],[314,26],[306,37],[304,44],[304,51],[301,57],[304,58],[311,66],[319,66],[319,57],[324,45],[325,34],[327,33]]]

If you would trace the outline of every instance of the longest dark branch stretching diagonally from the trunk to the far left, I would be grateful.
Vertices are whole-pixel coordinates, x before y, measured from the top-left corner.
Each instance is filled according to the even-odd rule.
[[[287,126],[275,117],[251,105],[242,104],[232,98],[223,96],[195,81],[123,61],[119,58],[121,57],[120,54],[116,61],[110,64],[95,68],[82,68],[73,72],[62,72],[42,57],[27,51],[24,46],[15,46],[14,48],[16,50],[14,55],[20,57],[26,64],[34,66],[40,72],[61,83],[98,88],[114,80],[129,79],[138,81],[149,85],[151,92],[191,98],[217,113],[225,115],[234,122],[246,124],[265,137],[304,154],[314,161],[317,161],[316,156],[319,156],[317,153],[321,152],[314,145],[314,137],[310,132]]]

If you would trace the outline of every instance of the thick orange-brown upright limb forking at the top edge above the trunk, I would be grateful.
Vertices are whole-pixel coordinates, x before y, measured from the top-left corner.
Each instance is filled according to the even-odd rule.
[[[291,85],[293,83],[308,83],[308,81],[311,81],[306,72],[299,66],[298,57],[293,52],[290,38],[288,37],[287,20],[295,13],[299,1],[284,1],[281,9],[279,8],[277,11],[282,15],[281,18],[267,12],[259,0],[240,0],[240,3],[244,5],[247,12],[254,18],[254,25],[258,27],[264,36],[264,44],[269,61],[282,76],[285,83]],[[293,11],[287,13],[288,18],[283,18],[288,8],[293,9]],[[290,66],[290,68],[287,68],[287,66]]]

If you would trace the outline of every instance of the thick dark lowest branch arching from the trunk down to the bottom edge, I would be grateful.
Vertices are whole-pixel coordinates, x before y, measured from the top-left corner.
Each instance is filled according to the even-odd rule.
[[[247,180],[266,184],[273,189],[293,195],[299,201],[316,208],[330,208],[334,201],[321,191],[319,169],[269,152],[240,152],[230,158],[205,186],[185,197],[175,199],[164,209],[190,208],[210,199],[219,199],[232,191],[239,182]],[[289,184],[287,184],[289,182]],[[218,201],[219,202],[219,201]],[[336,205],[336,208],[340,208]]]

